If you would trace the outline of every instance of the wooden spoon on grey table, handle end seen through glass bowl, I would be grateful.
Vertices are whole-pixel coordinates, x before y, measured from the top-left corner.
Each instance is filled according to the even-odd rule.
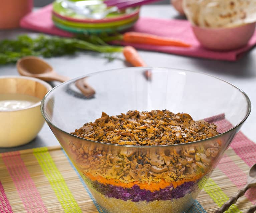
[[[65,82],[69,80],[68,77],[57,74],[46,61],[35,56],[26,56],[19,59],[16,67],[19,74],[23,76],[39,78],[44,81]],[[75,85],[87,98],[95,94],[95,90],[84,79],[77,80]]]

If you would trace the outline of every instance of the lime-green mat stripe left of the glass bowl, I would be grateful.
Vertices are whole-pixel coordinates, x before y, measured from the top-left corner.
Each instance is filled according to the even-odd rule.
[[[63,176],[55,165],[47,147],[33,149],[44,175],[47,177],[54,190],[58,201],[61,203],[65,213],[82,213],[81,208],[75,201],[71,191],[69,190]]]

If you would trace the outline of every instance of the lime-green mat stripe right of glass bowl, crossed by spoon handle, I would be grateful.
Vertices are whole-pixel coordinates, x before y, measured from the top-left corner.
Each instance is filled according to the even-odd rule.
[[[221,190],[212,178],[207,180],[203,189],[219,207],[229,199],[229,197]],[[241,213],[241,211],[236,205],[232,205],[226,213]]]

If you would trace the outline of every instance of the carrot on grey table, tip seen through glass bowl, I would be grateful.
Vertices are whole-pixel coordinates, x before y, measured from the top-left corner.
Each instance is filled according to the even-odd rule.
[[[123,48],[123,55],[129,63],[131,63],[135,67],[146,67],[146,63],[140,57],[139,53],[135,48],[132,46],[125,46]],[[144,72],[145,77],[150,80],[151,79],[151,72],[146,70]]]

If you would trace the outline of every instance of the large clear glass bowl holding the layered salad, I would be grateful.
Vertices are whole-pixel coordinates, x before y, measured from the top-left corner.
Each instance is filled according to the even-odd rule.
[[[151,73],[151,80],[145,78]],[[96,91],[74,86],[85,78]],[[128,110],[168,109],[214,122],[221,134],[177,145],[127,146],[70,134],[84,123]],[[218,78],[169,68],[93,73],[52,89],[42,114],[96,201],[110,213],[187,211],[251,110],[248,96]],[[155,162],[155,163],[153,163]],[[154,167],[155,166],[155,167]],[[156,169],[157,167],[157,169]]]

